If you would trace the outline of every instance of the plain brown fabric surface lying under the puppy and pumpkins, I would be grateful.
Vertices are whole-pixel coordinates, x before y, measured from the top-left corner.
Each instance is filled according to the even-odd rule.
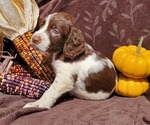
[[[77,98],[63,101],[50,110],[22,109],[33,101],[0,93],[0,125],[147,125],[150,103],[144,96],[113,96],[103,101]]]

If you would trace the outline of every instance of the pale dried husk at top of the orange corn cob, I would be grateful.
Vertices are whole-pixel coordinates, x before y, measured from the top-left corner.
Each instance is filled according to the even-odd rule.
[[[34,30],[39,8],[34,0],[0,0],[0,29],[10,40]]]

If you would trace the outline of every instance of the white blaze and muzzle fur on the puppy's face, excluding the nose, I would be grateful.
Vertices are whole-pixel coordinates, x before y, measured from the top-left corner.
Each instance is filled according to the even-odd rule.
[[[34,37],[34,35],[40,36],[41,42],[40,42],[39,44],[34,44],[34,43],[32,43],[32,44],[34,44],[38,49],[40,49],[40,50],[42,50],[42,51],[46,51],[46,50],[49,48],[50,44],[51,44],[50,38],[49,38],[50,36],[49,36],[49,34],[48,34],[48,32],[47,32],[47,28],[48,28],[48,26],[49,26],[50,20],[52,19],[52,17],[53,17],[54,15],[56,15],[56,13],[50,14],[50,15],[46,18],[45,24],[44,24],[38,31],[36,31],[36,32],[33,34],[33,37]],[[31,41],[32,41],[32,40],[31,40]]]

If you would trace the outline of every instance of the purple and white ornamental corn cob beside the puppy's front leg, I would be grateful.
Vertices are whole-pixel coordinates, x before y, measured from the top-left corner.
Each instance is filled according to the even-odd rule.
[[[3,75],[0,90],[3,93],[40,98],[50,87],[50,83],[35,79],[26,73],[8,73]]]

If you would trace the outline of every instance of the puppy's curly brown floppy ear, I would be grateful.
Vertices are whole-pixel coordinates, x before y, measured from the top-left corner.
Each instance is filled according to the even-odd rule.
[[[85,51],[85,40],[82,32],[76,27],[71,27],[71,31],[64,45],[64,56],[73,59]]]

